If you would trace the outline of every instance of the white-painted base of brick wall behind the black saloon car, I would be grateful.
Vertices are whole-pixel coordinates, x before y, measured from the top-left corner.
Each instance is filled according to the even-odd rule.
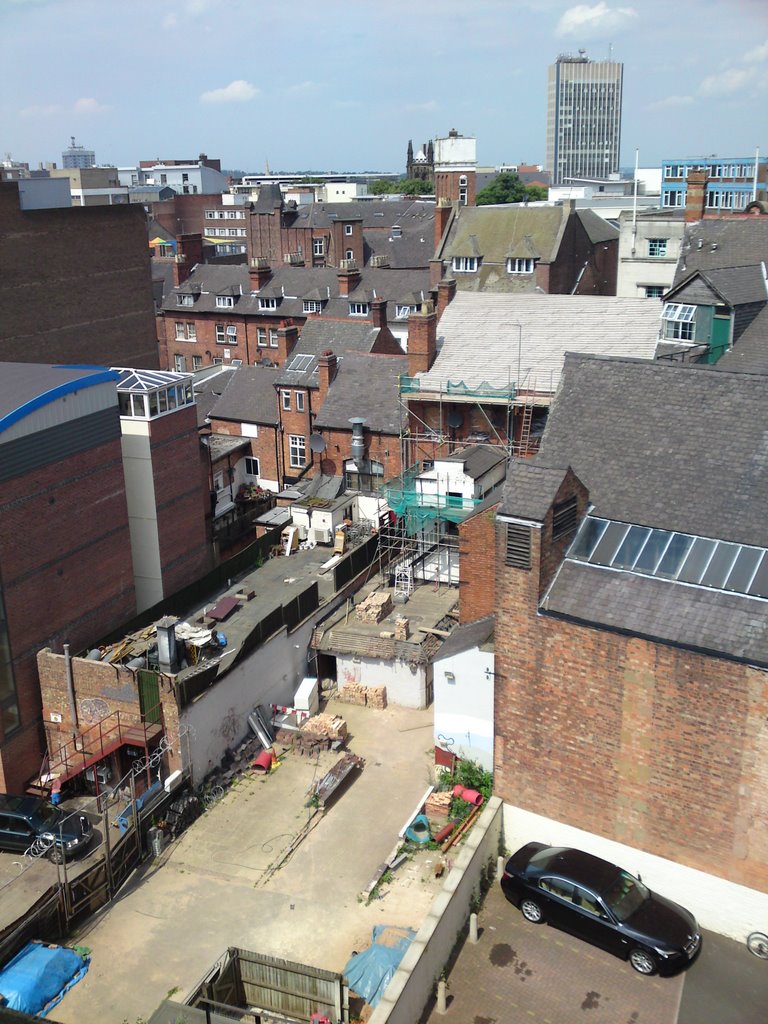
[[[768,922],[768,893],[705,874],[510,804],[504,805],[504,842],[510,852],[525,843],[539,842],[572,846],[603,857],[632,874],[641,874],[654,892],[687,907],[702,928],[739,942],[756,929],[765,931]]]

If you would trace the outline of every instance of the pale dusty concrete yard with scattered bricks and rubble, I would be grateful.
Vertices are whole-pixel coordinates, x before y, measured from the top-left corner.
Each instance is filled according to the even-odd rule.
[[[385,899],[359,899],[430,780],[431,711],[331,703],[366,758],[292,858],[267,878],[306,822],[307,790],[324,762],[286,757],[266,778],[240,782],[160,862],[146,864],[77,936],[92,949],[85,979],[67,993],[61,1024],[148,1017],[169,990],[186,993],[230,945],[340,971],[375,924],[418,928],[435,887],[430,865],[403,872]],[[421,872],[421,873],[420,873]]]

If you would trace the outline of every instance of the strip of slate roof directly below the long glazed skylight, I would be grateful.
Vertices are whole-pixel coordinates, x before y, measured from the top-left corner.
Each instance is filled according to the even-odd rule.
[[[565,561],[542,608],[575,622],[768,667],[766,603],[739,594]]]

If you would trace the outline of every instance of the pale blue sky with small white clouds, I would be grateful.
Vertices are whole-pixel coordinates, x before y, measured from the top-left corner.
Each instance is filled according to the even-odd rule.
[[[624,167],[768,157],[767,0],[0,0],[0,159],[404,173],[456,128],[543,163],[580,48],[624,62]]]

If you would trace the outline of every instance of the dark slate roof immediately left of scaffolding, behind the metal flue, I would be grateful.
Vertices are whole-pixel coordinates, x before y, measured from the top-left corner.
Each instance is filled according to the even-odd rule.
[[[366,428],[398,435],[400,403],[397,378],[408,373],[408,356],[347,352],[328,389],[314,425],[351,430],[350,416],[362,416]]]

